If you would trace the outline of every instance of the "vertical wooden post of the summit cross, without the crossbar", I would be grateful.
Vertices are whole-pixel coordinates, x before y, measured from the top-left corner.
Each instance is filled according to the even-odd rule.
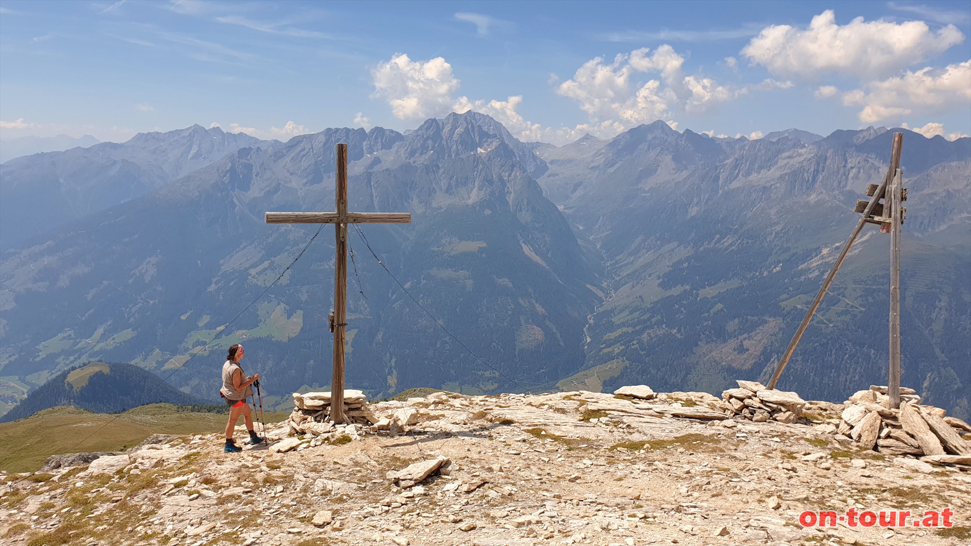
[[[334,366],[330,382],[330,420],[344,423],[344,334],[348,326],[348,145],[337,145],[337,177],[334,184]]]

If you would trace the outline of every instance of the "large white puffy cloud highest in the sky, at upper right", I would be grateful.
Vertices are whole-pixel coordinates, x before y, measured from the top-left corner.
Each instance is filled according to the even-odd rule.
[[[774,74],[807,80],[824,73],[874,79],[887,78],[963,41],[953,24],[935,32],[923,21],[856,17],[840,25],[833,11],[826,10],[806,29],[767,26],[741,52]]]

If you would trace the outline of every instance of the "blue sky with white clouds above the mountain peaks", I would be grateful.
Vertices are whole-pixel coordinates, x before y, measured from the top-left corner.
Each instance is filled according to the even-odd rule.
[[[0,1],[0,136],[286,140],[474,109],[523,140],[654,119],[971,133],[971,2]]]

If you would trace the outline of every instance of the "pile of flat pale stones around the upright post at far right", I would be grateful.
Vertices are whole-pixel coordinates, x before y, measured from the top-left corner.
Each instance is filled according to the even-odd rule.
[[[871,386],[844,402],[837,432],[863,449],[913,455],[921,461],[971,465],[971,426],[938,407],[921,405],[913,389],[900,389],[900,408],[889,407],[887,387]]]

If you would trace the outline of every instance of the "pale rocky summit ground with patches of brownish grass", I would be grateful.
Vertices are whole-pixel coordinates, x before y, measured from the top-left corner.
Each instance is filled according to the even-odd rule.
[[[821,422],[838,415],[754,423],[718,417],[699,399],[689,392],[653,400],[599,392],[436,393],[369,406],[379,417],[417,410],[414,426],[343,429],[323,443],[290,438],[287,444],[299,446],[285,453],[274,449],[284,445],[286,423],[270,427],[278,443],[239,454],[223,453],[216,432],[155,438],[90,464],[3,474],[0,541],[971,542],[966,468],[861,451],[850,438],[822,431]],[[950,507],[954,527],[804,529],[798,523],[804,510],[842,514],[854,507],[921,514]]]

